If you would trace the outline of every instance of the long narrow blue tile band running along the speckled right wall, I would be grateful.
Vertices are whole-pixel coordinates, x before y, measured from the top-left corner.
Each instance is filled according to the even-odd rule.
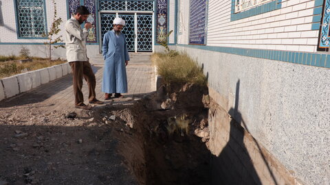
[[[294,51],[277,51],[266,49],[243,49],[232,47],[212,47],[204,45],[180,45],[180,47],[189,47],[203,49],[207,51],[216,51],[221,53],[230,53],[239,56],[248,56],[254,58],[264,58],[268,60],[279,60],[293,64],[304,64],[309,66],[320,66],[330,68],[330,54],[306,53]],[[263,54],[265,53],[265,54]]]

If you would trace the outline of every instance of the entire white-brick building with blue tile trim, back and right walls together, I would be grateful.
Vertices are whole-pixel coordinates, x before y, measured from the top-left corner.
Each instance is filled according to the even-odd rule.
[[[64,21],[78,5],[91,11],[91,58],[100,53],[102,36],[118,15],[127,23],[129,51],[163,51],[157,42],[168,40],[172,49],[188,53],[203,66],[210,96],[218,105],[209,120],[214,184],[230,182],[236,175],[243,184],[252,182],[249,178],[254,184],[329,184],[330,0],[56,4]],[[18,54],[24,45],[32,56],[45,56],[44,35],[53,16],[49,0],[0,0],[0,55]],[[64,23],[59,35],[64,35]],[[65,58],[65,49],[54,50],[58,57]],[[227,114],[248,134],[234,134]],[[242,146],[245,156],[230,155]],[[226,154],[227,148],[232,149]],[[238,161],[240,169],[221,179],[218,171],[232,169],[226,161]]]

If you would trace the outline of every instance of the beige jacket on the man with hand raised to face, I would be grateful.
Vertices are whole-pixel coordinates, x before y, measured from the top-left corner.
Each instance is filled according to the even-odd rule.
[[[88,61],[86,50],[87,29],[81,29],[73,16],[65,23],[67,62]]]

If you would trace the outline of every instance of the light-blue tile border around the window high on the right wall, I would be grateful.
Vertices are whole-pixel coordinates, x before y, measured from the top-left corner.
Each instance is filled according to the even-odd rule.
[[[256,7],[252,7],[248,10],[243,10],[243,12],[235,13],[236,1],[238,1],[238,0],[232,0],[232,11],[231,11],[231,16],[230,16],[230,21],[236,21],[241,18],[247,18],[250,16],[263,14],[265,12],[271,12],[273,10],[278,10],[278,9],[282,8],[282,0],[274,0],[269,3],[257,5]]]

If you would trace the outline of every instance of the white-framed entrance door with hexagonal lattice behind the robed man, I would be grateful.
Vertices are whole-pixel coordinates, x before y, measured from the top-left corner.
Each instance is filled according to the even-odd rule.
[[[154,1],[99,1],[100,51],[104,34],[113,29],[116,16],[124,19],[122,33],[126,37],[127,49],[133,52],[153,51]]]

